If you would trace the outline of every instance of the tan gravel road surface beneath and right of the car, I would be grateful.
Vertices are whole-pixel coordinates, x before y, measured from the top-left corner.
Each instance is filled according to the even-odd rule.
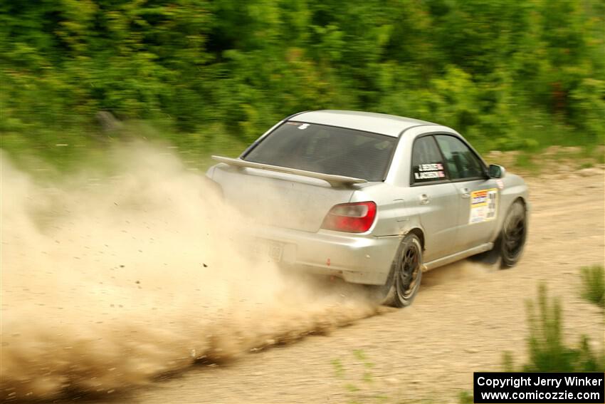
[[[472,390],[473,371],[502,369],[503,351],[511,351],[517,363],[525,360],[525,301],[536,296],[540,281],[562,300],[567,341],[575,343],[584,333],[602,350],[604,316],[580,299],[579,267],[604,262],[603,173],[591,169],[528,181],[530,234],[514,269],[470,261],[436,269],[425,274],[408,309],[220,366],[195,367],[114,400],[456,402],[461,390]],[[364,372],[371,383],[363,381]]]

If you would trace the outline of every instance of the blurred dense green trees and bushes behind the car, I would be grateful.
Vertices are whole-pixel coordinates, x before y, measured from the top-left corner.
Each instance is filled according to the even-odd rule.
[[[246,144],[320,108],[444,123],[482,150],[602,144],[604,16],[573,0],[7,0],[2,147],[95,143],[101,110],[177,145]]]

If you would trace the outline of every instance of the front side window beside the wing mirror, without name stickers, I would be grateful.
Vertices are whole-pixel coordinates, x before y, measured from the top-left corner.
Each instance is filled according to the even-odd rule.
[[[483,177],[484,170],[478,157],[462,140],[448,135],[437,135],[443,157],[452,180]]]

